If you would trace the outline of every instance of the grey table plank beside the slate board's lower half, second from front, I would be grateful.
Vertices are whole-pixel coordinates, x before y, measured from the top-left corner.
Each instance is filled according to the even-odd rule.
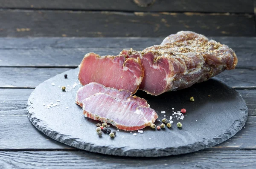
[[[0,150],[75,149],[62,145],[38,131],[26,115],[0,116]],[[210,149],[256,149],[256,116],[249,116],[241,131],[224,143]],[[24,134],[24,132],[26,134]],[[8,139],[6,139],[8,138]]]

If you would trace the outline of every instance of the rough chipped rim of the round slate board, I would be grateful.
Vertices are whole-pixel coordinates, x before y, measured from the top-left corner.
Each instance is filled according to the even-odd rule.
[[[77,68],[78,69],[78,68]],[[69,71],[73,71],[75,69],[71,69]],[[68,74],[69,71],[63,72],[61,74]],[[60,74],[57,74],[58,76]],[[54,76],[55,77],[55,76]],[[52,77],[52,78],[54,78]],[[50,79],[52,79],[50,78]],[[48,79],[48,80],[50,80]],[[216,79],[216,78],[215,78]],[[218,80],[218,79],[216,79]],[[47,81],[47,80],[46,80]],[[219,80],[221,83],[223,83],[221,80]],[[43,82],[44,83],[44,82]],[[43,84],[41,83],[41,84]],[[35,90],[41,85],[39,84]],[[228,86],[231,88],[230,86]],[[225,140],[228,140],[230,137],[235,135],[239,130],[242,129],[242,127],[245,125],[245,122],[248,117],[248,108],[246,106],[245,101],[242,99],[244,103],[244,108],[240,109],[240,111],[243,113],[243,117],[240,120],[236,120],[229,129],[226,129],[225,132],[223,132],[221,135],[216,135],[212,139],[205,138],[201,141],[198,141],[193,144],[189,144],[186,146],[180,146],[177,148],[166,148],[166,149],[129,149],[128,147],[122,147],[122,148],[116,148],[113,146],[109,147],[102,147],[102,146],[95,146],[93,143],[86,143],[79,138],[71,138],[69,135],[61,135],[59,133],[56,133],[50,129],[47,124],[45,124],[40,119],[36,118],[34,115],[34,108],[33,103],[30,101],[34,97],[35,90],[31,93],[29,96],[28,102],[27,102],[27,116],[31,123],[41,132],[43,132],[45,135],[51,137],[54,140],[57,140],[61,143],[64,143],[68,146],[73,146],[78,149],[83,149],[89,152],[97,152],[101,154],[106,155],[117,155],[117,156],[128,156],[128,157],[162,157],[162,156],[169,156],[169,155],[180,155],[180,154],[186,154],[189,152],[196,152],[205,148],[209,148],[211,146],[215,146],[219,143],[224,142]],[[239,94],[241,97],[241,95]]]

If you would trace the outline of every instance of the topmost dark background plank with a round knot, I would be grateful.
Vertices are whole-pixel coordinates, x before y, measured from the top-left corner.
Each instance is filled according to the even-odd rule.
[[[1,0],[0,8],[253,13],[252,0]]]

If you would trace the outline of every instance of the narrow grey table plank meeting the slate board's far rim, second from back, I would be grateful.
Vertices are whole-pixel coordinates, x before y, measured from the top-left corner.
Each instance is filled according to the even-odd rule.
[[[44,80],[67,70],[69,69],[0,67],[0,87],[35,87]],[[216,77],[229,86],[256,88],[256,69],[234,69],[224,71]]]

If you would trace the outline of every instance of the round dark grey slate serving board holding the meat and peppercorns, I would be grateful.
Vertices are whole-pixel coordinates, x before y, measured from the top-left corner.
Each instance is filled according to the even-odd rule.
[[[45,135],[61,143],[108,155],[158,157],[195,152],[221,143],[235,135],[247,120],[247,106],[241,95],[217,79],[198,83],[175,92],[160,96],[147,95],[138,91],[137,96],[145,98],[162,118],[170,119],[172,128],[155,130],[150,127],[137,131],[116,131],[116,137],[96,134],[99,121],[84,117],[76,105],[76,91],[81,86],[73,69],[52,77],[32,92],[28,100],[27,115],[33,125]],[[64,78],[64,74],[68,78]],[[62,92],[60,86],[66,86]],[[189,98],[193,96],[194,102]],[[172,110],[174,108],[174,110]],[[183,120],[174,112],[185,108]],[[165,111],[166,113],[161,113]],[[174,115],[173,115],[174,114]],[[176,123],[183,124],[182,129]],[[160,121],[156,121],[160,125]],[[136,135],[134,135],[136,133]]]

